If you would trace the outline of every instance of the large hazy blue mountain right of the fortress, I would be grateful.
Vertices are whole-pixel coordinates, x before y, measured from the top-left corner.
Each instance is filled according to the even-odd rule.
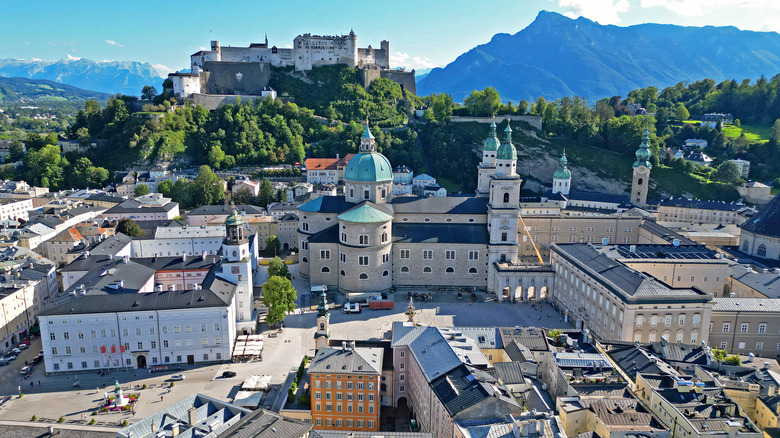
[[[756,79],[780,73],[780,34],[735,27],[669,24],[603,26],[541,11],[528,27],[436,68],[417,83],[421,96],[446,92],[462,101],[495,87],[503,100],[583,96],[590,102],[680,81]]]

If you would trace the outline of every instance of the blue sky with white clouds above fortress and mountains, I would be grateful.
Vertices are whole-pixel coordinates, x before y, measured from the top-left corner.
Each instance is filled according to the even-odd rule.
[[[305,32],[346,34],[361,47],[390,41],[393,66],[446,65],[542,10],[602,24],[655,22],[780,31],[778,0],[254,0],[0,2],[0,58],[132,60],[173,69],[220,40],[285,47]]]

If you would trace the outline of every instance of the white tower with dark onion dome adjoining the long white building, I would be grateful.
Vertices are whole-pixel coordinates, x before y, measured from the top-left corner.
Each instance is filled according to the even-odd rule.
[[[219,274],[237,285],[235,296],[236,331],[253,333],[255,329],[252,291],[252,254],[249,250],[244,219],[233,209],[225,220],[225,240],[222,242],[222,273]]]

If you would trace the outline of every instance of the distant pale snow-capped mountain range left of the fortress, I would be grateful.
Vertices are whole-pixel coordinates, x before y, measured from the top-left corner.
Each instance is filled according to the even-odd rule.
[[[83,58],[59,61],[0,59],[0,76],[47,79],[102,93],[141,94],[144,85],[162,91],[167,68],[137,61],[92,61]]]

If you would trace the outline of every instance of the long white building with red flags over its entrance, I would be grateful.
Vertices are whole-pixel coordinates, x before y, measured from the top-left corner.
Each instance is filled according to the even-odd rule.
[[[229,360],[236,334],[235,285],[88,293],[40,316],[47,373],[146,368]]]

